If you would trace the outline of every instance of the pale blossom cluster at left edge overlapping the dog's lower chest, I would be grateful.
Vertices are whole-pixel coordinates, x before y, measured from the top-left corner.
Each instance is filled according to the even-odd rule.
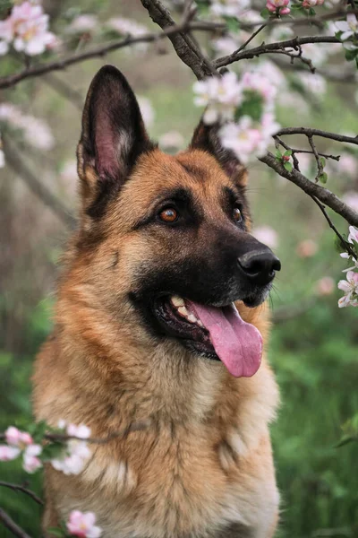
[[[90,457],[90,448],[85,441],[90,437],[90,429],[82,424],[67,425],[64,421],[60,421],[58,430],[73,438],[64,443],[59,454],[55,447],[56,455],[51,456],[51,442],[47,441],[46,446],[41,442],[44,436],[36,443],[35,436],[10,426],[4,434],[6,445],[0,445],[0,461],[11,461],[22,456],[22,467],[27,473],[35,473],[45,461],[49,461],[57,471],[65,474],[81,473]]]

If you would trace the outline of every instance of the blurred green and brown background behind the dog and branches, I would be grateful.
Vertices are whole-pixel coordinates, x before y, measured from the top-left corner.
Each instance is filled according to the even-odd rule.
[[[95,13],[99,22],[127,17],[155,30],[139,0],[77,0],[75,7],[71,2],[44,4],[57,30],[69,26],[73,10]],[[77,42],[68,38],[80,50],[88,40],[96,42],[94,30],[87,37],[86,32],[81,35]],[[205,38],[201,39],[205,45]],[[333,59],[335,69],[341,62],[340,56]],[[81,107],[92,76],[105,63],[116,65],[127,76],[141,97],[149,133],[166,151],[185,147],[199,121],[200,110],[192,102],[193,75],[165,41],[24,81],[0,95],[0,111],[11,102],[22,114],[45,124],[28,126],[27,138],[26,132],[2,124],[14,160],[13,166],[8,163],[0,170],[0,430],[31,420],[32,364],[51,330],[57,263],[69,236],[64,222],[31,192],[23,166],[61,200],[69,214],[75,214]],[[0,58],[0,74],[18,68],[13,58]],[[290,76],[295,92],[279,97],[278,118],[283,126],[356,134],[354,84],[330,82],[327,91],[315,92],[300,88],[299,76]],[[300,138],[294,140],[295,147],[302,143]],[[328,141],[320,143],[320,150],[343,156],[338,166],[330,165],[328,187],[358,205],[357,155]],[[304,159],[304,169],[313,174],[310,159]],[[282,395],[272,428],[282,494],[279,535],[354,538],[358,536],[358,444],[337,447],[342,426],[358,412],[358,308],[337,308],[337,281],[345,260],[338,256],[334,235],[318,207],[286,179],[277,178],[258,162],[250,167],[248,192],[256,233],[275,249],[283,266],[270,297],[274,324],[268,351]],[[333,218],[346,233],[345,221]],[[0,480],[28,481],[41,494],[40,473],[26,475],[16,463],[0,464]],[[35,503],[4,489],[0,499],[31,536],[40,535]],[[0,527],[1,537],[10,535]]]

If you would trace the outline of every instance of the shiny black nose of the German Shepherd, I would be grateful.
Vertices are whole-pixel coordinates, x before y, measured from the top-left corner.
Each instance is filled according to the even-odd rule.
[[[260,286],[271,282],[276,271],[281,269],[281,262],[269,248],[246,252],[237,258],[237,262],[251,282]]]

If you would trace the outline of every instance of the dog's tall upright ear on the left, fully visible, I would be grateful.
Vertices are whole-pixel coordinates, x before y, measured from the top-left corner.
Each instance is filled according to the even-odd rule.
[[[84,198],[103,202],[105,193],[123,185],[141,153],[153,148],[132,88],[105,65],[90,84],[82,115],[77,156]]]

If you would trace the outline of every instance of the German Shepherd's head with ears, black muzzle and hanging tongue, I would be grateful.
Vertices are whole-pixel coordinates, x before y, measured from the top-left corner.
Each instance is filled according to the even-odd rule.
[[[128,82],[105,66],[90,86],[78,160],[77,256],[100,308],[113,317],[127,308],[159,343],[251,376],[260,334],[234,301],[260,305],[280,263],[249,232],[246,171],[217,126],[200,123],[185,152],[160,152]]]

